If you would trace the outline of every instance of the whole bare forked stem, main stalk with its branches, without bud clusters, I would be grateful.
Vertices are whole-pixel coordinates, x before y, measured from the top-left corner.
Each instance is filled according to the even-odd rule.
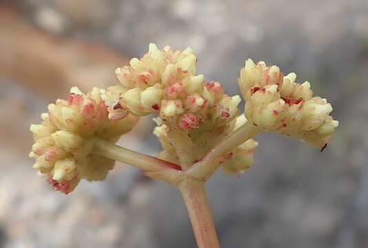
[[[192,154],[186,151],[188,147],[191,147],[191,144],[185,142],[185,146],[176,145],[176,149],[178,149],[181,155],[179,160],[183,163],[182,166],[187,169],[185,172],[181,172],[181,174],[171,173],[181,170],[181,167],[174,163],[125,149],[119,145],[103,141],[100,138],[94,138],[94,152],[143,169],[149,172],[147,176],[159,178],[172,183],[172,185],[177,185],[187,206],[198,247],[220,248],[205,192],[205,181],[218,168],[218,159],[221,156],[232,151],[232,149],[238,147],[238,145],[252,138],[260,131],[260,128],[253,125],[253,123],[245,123],[238,130],[223,139],[221,143],[218,143],[200,162],[192,166],[190,166]],[[180,138],[181,141],[186,141],[187,139],[187,136],[176,132],[173,132],[170,136],[172,136],[170,138],[173,140]]]

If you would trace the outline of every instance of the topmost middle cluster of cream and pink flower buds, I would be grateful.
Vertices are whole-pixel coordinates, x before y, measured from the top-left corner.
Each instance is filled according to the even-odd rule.
[[[147,54],[115,73],[121,85],[110,87],[104,98],[112,119],[128,112],[137,116],[156,112],[168,126],[192,130],[208,117],[233,117],[241,101],[238,96],[223,94],[220,83],[205,83],[203,75],[196,75],[191,48],[175,51],[166,46],[159,50],[151,43]]]

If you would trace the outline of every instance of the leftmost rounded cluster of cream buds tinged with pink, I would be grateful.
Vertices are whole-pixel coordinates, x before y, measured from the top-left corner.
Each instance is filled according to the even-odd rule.
[[[138,121],[127,114],[121,121],[108,118],[108,109],[101,99],[104,90],[94,88],[83,94],[73,87],[68,101],[57,100],[48,105],[40,125],[31,125],[34,145],[30,157],[36,158],[35,169],[47,176],[54,189],[68,194],[81,178],[103,180],[114,161],[92,152],[91,138],[99,137],[115,143]]]

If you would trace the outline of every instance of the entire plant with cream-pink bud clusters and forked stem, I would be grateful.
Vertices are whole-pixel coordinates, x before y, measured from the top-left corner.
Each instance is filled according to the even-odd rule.
[[[238,116],[241,98],[196,74],[196,62],[191,48],[159,50],[150,44],[141,59],[116,69],[119,85],[88,94],[73,87],[68,100],[50,104],[41,124],[31,125],[33,167],[65,194],[81,178],[105,179],[115,161],[143,169],[180,189],[198,247],[220,247],[205,195],[207,178],[218,167],[238,175],[249,169],[258,146],[252,138],[259,132],[279,132],[324,149],[338,121],[308,82],[295,83],[296,74],[284,76],[276,65],[250,59],[238,79],[245,99],[245,114]],[[157,156],[115,145],[140,116],[153,113],[163,148]]]

